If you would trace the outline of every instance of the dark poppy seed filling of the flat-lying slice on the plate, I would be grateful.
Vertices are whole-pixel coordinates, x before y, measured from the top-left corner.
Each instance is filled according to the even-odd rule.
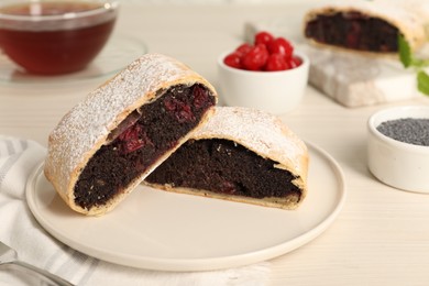
[[[229,140],[190,140],[145,180],[252,198],[300,198],[296,177],[276,164]]]

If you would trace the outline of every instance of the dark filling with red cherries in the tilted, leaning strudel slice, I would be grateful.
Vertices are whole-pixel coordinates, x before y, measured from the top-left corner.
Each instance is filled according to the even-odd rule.
[[[86,209],[105,205],[176,146],[215,106],[215,97],[199,84],[161,92],[121,122],[88,162],[74,189],[77,205]]]

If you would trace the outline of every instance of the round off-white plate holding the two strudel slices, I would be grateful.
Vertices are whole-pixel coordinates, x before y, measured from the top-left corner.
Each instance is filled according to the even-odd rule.
[[[43,165],[29,178],[26,198],[47,232],[100,260],[160,271],[241,266],[301,246],[339,213],[344,201],[342,172],[324,151],[308,146],[309,191],[295,211],[140,186],[108,215],[85,217],[56,195]]]

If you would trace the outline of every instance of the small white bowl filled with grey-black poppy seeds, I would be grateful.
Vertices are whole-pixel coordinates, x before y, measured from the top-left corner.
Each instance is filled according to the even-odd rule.
[[[367,129],[370,172],[394,188],[429,194],[429,106],[381,110]]]

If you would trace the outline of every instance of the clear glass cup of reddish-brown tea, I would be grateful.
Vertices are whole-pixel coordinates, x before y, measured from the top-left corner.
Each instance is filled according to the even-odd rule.
[[[108,42],[118,10],[109,0],[1,0],[0,52],[31,74],[81,70]]]

